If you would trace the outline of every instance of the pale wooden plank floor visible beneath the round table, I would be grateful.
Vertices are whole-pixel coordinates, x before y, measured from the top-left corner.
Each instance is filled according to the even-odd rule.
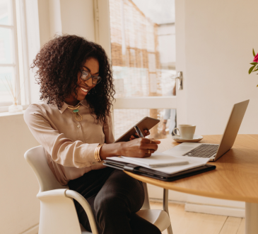
[[[151,202],[151,208],[162,209],[162,204]],[[169,212],[173,234],[245,234],[245,218],[187,212],[183,204],[169,204]]]

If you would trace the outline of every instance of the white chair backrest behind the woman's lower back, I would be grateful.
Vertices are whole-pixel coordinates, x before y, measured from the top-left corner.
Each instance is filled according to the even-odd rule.
[[[40,184],[40,192],[68,188],[59,184],[56,177],[54,177],[53,172],[47,164],[45,150],[41,145],[26,151],[24,157],[37,177],[37,182]]]

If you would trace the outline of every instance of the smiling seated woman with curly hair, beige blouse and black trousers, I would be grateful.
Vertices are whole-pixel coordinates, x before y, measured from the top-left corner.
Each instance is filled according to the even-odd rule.
[[[115,90],[105,51],[84,38],[63,35],[44,45],[32,67],[37,68],[42,101],[30,105],[24,118],[60,184],[86,198],[99,233],[160,233],[136,215],[144,199],[141,182],[102,165],[117,155],[149,157],[160,143],[134,136],[113,143]],[[85,211],[75,205],[80,223],[90,230]]]

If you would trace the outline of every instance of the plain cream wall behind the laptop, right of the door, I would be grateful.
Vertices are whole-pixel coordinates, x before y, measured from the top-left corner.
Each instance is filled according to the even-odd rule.
[[[196,124],[197,134],[222,134],[233,104],[246,99],[240,133],[258,133],[258,76],[248,75],[252,48],[258,52],[257,7],[256,0],[176,0],[177,70],[185,89],[177,94],[187,114],[178,122]]]

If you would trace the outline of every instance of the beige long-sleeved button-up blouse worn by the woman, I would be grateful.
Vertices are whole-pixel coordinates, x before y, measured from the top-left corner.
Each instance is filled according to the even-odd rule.
[[[47,101],[40,101],[30,105],[24,114],[31,133],[45,149],[50,169],[62,185],[92,169],[104,168],[102,162],[95,160],[95,147],[115,141],[111,118],[107,118],[105,125],[96,121],[83,100],[78,108],[83,119],[76,121],[68,106],[64,103],[59,110]]]

